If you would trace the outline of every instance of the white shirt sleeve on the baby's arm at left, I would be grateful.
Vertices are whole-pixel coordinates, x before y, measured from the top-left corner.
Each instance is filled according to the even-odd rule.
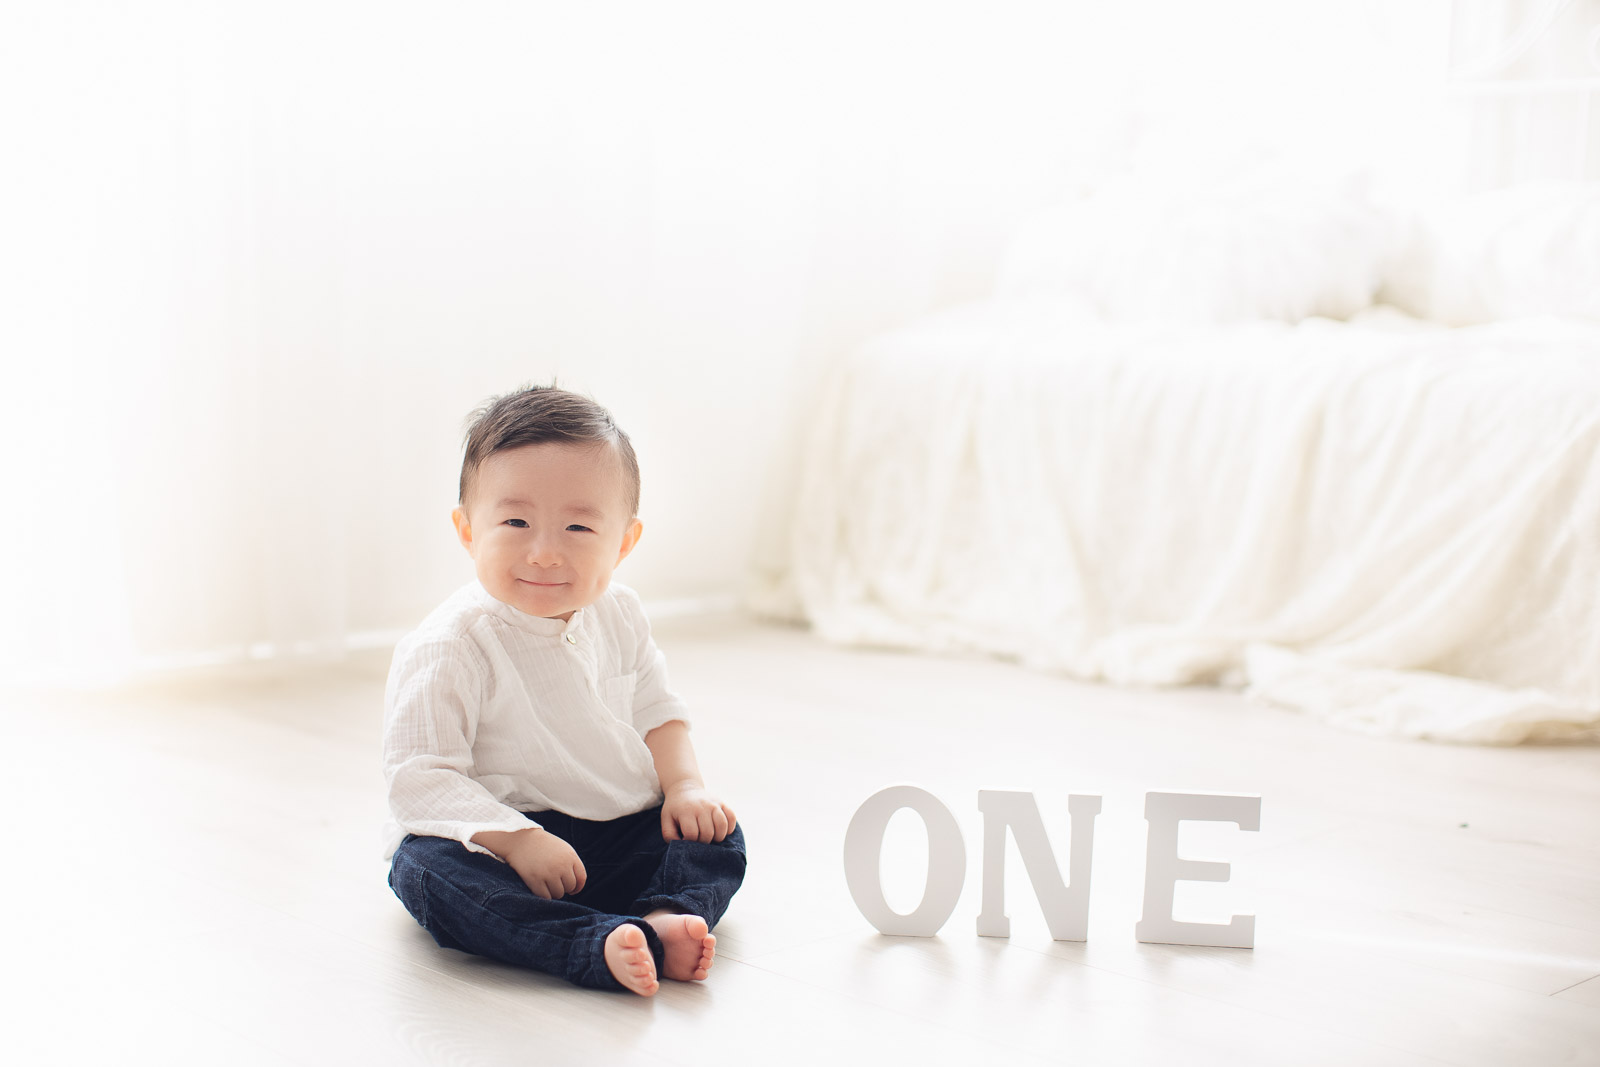
[[[472,840],[482,830],[538,825],[472,777],[483,669],[459,638],[402,645],[384,696],[384,779],[389,811],[406,833]]]

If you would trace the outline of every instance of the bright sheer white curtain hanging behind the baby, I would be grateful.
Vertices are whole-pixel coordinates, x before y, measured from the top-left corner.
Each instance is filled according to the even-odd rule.
[[[829,363],[986,293],[1030,211],[1414,144],[1371,117],[1440,6],[1395,6],[13,5],[0,678],[414,624],[469,574],[462,416],[550,376],[640,446],[619,577],[731,595]]]

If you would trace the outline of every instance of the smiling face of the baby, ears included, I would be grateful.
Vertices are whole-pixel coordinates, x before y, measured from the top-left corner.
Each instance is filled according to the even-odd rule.
[[[589,445],[525,445],[485,459],[467,509],[451,515],[483,589],[547,619],[598,600],[643,530],[624,504],[621,467],[611,448]]]

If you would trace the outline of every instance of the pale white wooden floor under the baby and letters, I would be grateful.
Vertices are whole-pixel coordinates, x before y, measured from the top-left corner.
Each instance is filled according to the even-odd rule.
[[[387,656],[114,696],[5,697],[11,1064],[1600,1064],[1600,749],[1333,731],[1230,693],[1122,691],[846,651],[741,619],[658,627],[750,873],[706,984],[642,1000],[438,949],[384,885]],[[856,806],[915,782],[968,881],[938,937],[845,888]],[[1051,942],[1013,854],[978,937],[978,790],[1024,789],[1066,854],[1099,793],[1090,937]],[[1262,795],[1189,835],[1254,950],[1133,939],[1150,789]],[[1206,829],[1190,824],[1195,830]],[[910,910],[920,824],[891,822]]]

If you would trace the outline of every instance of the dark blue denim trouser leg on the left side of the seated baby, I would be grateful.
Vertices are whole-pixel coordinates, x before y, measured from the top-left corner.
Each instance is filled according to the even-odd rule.
[[[605,939],[622,923],[632,921],[645,931],[658,973],[664,958],[661,937],[650,923],[571,899],[546,901],[509,864],[450,838],[408,835],[395,849],[389,886],[440,945],[576,985],[622,989],[605,963]]]

